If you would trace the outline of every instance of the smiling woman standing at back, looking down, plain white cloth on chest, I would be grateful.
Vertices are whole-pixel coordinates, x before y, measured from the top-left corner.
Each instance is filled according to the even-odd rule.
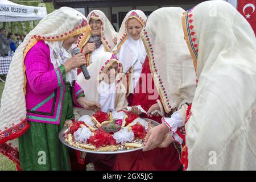
[[[142,64],[146,58],[140,33],[146,24],[147,17],[141,10],[131,10],[126,14],[117,37],[117,45],[112,49],[122,61],[129,104],[132,101],[135,85],[141,75]]]

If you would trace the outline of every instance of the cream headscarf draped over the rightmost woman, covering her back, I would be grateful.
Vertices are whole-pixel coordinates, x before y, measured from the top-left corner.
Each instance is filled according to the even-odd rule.
[[[185,125],[188,170],[256,169],[256,55],[250,24],[207,1],[183,16],[199,79]]]

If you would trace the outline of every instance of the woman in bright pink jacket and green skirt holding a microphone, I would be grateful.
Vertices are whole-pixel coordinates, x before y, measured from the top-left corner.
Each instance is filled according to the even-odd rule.
[[[100,109],[84,100],[76,83],[76,68],[85,59],[82,53],[72,56],[70,48],[82,32],[89,32],[85,16],[61,7],[43,18],[15,51],[1,99],[0,151],[18,166],[20,160],[22,170],[69,170],[60,129],[74,118],[73,104]]]

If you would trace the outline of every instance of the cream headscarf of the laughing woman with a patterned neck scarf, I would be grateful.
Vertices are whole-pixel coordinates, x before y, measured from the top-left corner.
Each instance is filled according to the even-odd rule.
[[[115,32],[112,24],[109,22],[109,19],[106,17],[106,15],[102,11],[100,11],[100,10],[91,11],[89,13],[89,15],[87,16],[88,22],[90,21],[91,18],[94,20],[98,20],[98,19],[101,20],[101,22],[102,22],[102,24],[101,24],[101,42],[104,44],[105,51],[111,52],[111,50],[115,46],[113,39],[115,37],[117,37],[117,32]],[[88,40],[90,39],[90,35],[92,35],[92,34],[83,34],[80,37],[80,39],[78,40],[78,43],[77,43],[77,45],[79,46],[80,49],[82,49],[82,47],[84,47],[85,44],[88,42]],[[88,59],[91,59],[91,57],[88,57]]]

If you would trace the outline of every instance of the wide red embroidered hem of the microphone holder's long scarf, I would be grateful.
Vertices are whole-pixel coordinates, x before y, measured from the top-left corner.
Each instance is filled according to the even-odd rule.
[[[18,138],[20,135],[23,135],[27,131],[27,129],[30,128],[30,125],[27,122],[27,118],[20,119],[20,121],[21,122],[17,125],[10,127],[9,129],[6,129],[2,133],[0,133],[0,144]]]

